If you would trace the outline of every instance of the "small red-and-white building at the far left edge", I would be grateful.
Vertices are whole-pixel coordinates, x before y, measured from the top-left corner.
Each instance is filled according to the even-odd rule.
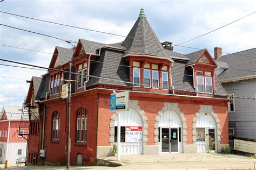
[[[26,156],[26,139],[19,136],[22,107],[4,105],[0,115],[0,162],[16,163],[16,159]],[[26,121],[28,123],[28,121]],[[22,132],[21,132],[22,133]]]

